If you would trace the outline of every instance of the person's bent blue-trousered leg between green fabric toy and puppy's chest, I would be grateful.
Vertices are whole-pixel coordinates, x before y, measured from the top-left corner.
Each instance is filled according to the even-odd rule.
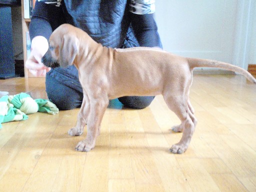
[[[49,100],[60,110],[81,106],[83,93],[74,66],[51,69],[46,73],[45,87]]]

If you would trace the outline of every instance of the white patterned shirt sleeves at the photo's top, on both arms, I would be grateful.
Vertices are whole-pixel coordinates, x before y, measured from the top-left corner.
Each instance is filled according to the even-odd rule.
[[[59,6],[61,4],[61,0],[38,0],[41,2],[45,2],[47,4],[55,4]],[[154,13],[155,0],[129,0],[129,11],[135,14],[149,14]]]

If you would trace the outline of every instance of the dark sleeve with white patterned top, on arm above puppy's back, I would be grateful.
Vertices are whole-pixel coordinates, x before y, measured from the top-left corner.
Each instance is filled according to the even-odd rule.
[[[130,0],[131,26],[140,46],[162,48],[157,25],[153,17],[154,0]]]

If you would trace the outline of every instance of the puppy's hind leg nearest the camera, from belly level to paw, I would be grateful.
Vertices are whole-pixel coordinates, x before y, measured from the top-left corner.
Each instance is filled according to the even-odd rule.
[[[194,132],[196,119],[193,113],[190,111],[187,103],[187,98],[183,95],[163,95],[163,98],[169,107],[180,119],[181,124],[176,126],[177,130],[183,130],[180,141],[173,144],[170,151],[173,153],[183,153],[191,140]]]

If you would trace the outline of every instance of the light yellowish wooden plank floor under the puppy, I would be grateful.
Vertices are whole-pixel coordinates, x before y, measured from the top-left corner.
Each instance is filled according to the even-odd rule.
[[[44,78],[0,80],[10,94],[46,98]],[[0,129],[0,191],[256,191],[256,86],[240,75],[194,75],[198,124],[184,154],[162,96],[142,110],[112,102],[96,147],[77,152],[78,109],[30,114]]]

